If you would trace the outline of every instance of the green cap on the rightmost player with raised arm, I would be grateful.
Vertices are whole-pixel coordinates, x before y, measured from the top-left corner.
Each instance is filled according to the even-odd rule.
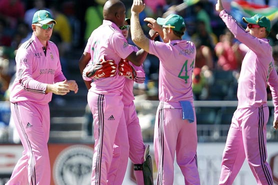
[[[270,20],[261,14],[255,14],[252,17],[242,17],[243,22],[250,23],[250,24],[257,24],[261,27],[265,27],[266,31],[270,32],[271,25]]]

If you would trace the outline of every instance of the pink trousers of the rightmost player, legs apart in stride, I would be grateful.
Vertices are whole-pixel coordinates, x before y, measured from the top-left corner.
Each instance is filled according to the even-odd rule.
[[[245,158],[257,184],[273,184],[266,161],[268,116],[266,105],[235,110],[223,151],[219,184],[232,184]]]

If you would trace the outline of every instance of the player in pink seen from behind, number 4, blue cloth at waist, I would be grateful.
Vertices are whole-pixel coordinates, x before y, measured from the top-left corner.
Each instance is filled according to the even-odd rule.
[[[197,170],[196,117],[193,106],[192,71],[195,64],[194,43],[182,40],[185,23],[181,16],[145,18],[148,26],[158,32],[163,42],[144,36],[139,13],[142,0],[133,0],[130,31],[132,41],[159,58],[159,105],[154,126],[154,156],[158,170],[157,184],[173,184],[174,157],[185,184],[200,184]]]

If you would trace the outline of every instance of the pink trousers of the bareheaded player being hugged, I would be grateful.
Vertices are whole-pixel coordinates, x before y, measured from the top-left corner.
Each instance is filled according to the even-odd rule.
[[[97,94],[89,91],[87,100],[93,116],[94,152],[92,158],[91,184],[115,184],[116,170],[110,169],[114,142],[120,143],[119,155],[124,156],[117,165],[126,170],[128,162],[128,137],[123,115],[122,96]],[[125,151],[125,152],[124,152]],[[111,181],[112,180],[112,181]]]

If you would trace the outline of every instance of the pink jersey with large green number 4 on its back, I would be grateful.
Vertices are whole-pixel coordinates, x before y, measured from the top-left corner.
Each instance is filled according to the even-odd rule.
[[[193,42],[149,41],[149,53],[159,57],[159,100],[180,108],[180,100],[193,102],[192,72],[196,48]],[[177,67],[179,66],[179,67]]]

